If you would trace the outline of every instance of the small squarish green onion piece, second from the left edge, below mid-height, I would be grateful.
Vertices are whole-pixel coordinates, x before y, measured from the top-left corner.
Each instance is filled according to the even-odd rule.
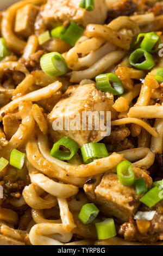
[[[10,165],[21,170],[24,165],[25,156],[26,154],[18,151],[17,149],[12,149],[10,155]]]

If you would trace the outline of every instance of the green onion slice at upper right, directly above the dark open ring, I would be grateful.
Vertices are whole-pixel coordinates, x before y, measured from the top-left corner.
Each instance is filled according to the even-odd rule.
[[[143,50],[146,50],[149,53],[153,53],[158,51],[159,44],[161,44],[160,36],[158,36],[155,32],[150,33],[141,33],[137,36],[137,39],[133,45],[133,47],[139,42],[140,38],[143,37],[143,40],[140,44],[140,47]],[[154,46],[158,44],[158,47],[154,49]]]

